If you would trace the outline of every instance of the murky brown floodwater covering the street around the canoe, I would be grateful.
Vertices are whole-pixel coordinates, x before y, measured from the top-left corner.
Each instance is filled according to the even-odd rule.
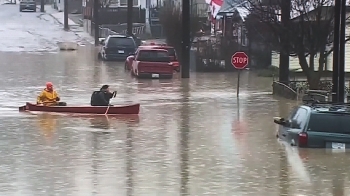
[[[275,138],[274,116],[297,103],[274,98],[271,78],[197,73],[136,80],[93,48],[0,53],[2,196],[348,195],[350,159],[298,150]],[[69,105],[102,84],[135,116],[19,113],[52,81]]]

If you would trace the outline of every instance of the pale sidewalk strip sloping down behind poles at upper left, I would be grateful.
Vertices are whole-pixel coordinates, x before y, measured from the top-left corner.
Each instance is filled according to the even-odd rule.
[[[55,19],[59,24],[63,26],[64,12],[59,12],[58,10],[52,8],[51,5],[45,5],[45,13],[49,14],[53,19]],[[68,17],[68,26],[69,26],[69,30],[73,32],[76,36],[86,40],[91,44],[95,43],[95,39],[89,33],[85,32],[83,27],[81,27],[78,23],[75,23],[69,17]]]

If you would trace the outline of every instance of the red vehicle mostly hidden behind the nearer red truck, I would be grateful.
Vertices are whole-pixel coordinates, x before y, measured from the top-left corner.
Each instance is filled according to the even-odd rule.
[[[173,68],[175,71],[180,71],[180,64],[177,59],[177,55],[175,52],[175,48],[167,45],[142,45],[138,47],[139,49],[163,49],[168,51],[168,55],[170,56],[171,63],[173,64]],[[131,70],[132,64],[131,61],[127,58],[125,61],[125,69]]]

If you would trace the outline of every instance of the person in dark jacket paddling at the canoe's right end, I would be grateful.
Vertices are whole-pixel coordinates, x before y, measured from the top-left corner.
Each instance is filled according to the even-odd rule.
[[[91,106],[112,106],[110,100],[117,95],[117,91],[110,92],[108,85],[103,85],[99,91],[94,91],[91,95]]]

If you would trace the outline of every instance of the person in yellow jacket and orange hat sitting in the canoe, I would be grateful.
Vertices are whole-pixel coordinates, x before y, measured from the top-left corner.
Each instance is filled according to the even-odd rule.
[[[46,88],[40,93],[36,104],[44,106],[64,106],[64,102],[59,102],[60,97],[57,92],[53,89],[53,84],[51,82],[46,83]]]

